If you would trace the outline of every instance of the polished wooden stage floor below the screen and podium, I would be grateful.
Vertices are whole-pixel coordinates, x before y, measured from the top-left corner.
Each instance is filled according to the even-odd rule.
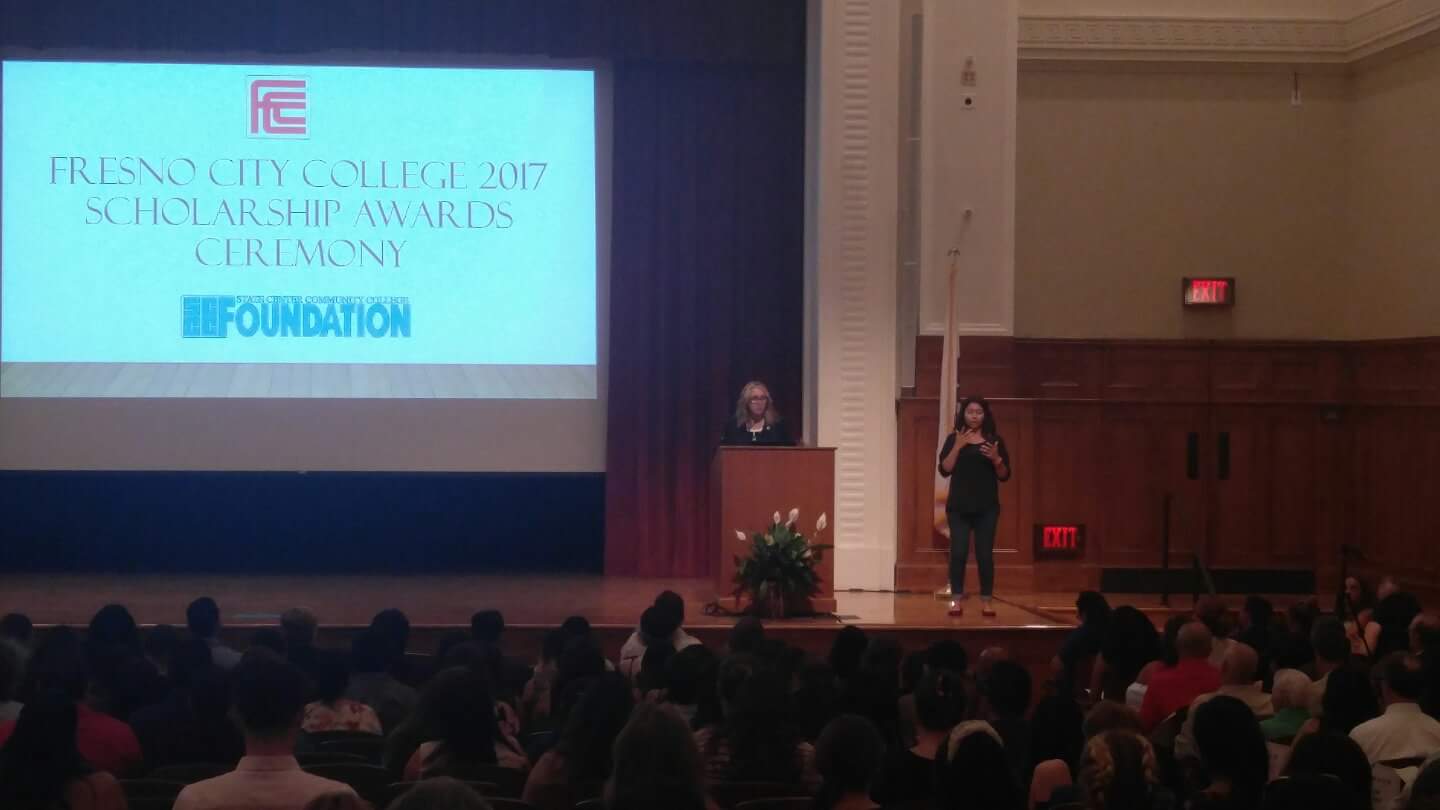
[[[130,608],[140,624],[184,624],[190,600],[209,595],[226,626],[266,627],[291,607],[308,607],[324,627],[364,627],[377,611],[397,607],[413,627],[469,627],[477,610],[504,613],[513,628],[556,627],[569,615],[585,615],[596,627],[631,628],[655,594],[671,589],[685,598],[687,627],[719,628],[733,615],[707,615],[714,600],[710,579],[629,579],[618,577],[544,575],[145,575],[27,574],[0,577],[0,613],[20,611],[36,624],[84,626],[109,602]],[[1060,628],[1068,615],[1040,605],[1074,602],[1074,594],[999,594],[996,614],[985,618],[979,600],[965,602],[965,615],[946,615],[946,602],[930,594],[841,591],[835,617],[792,618],[792,628],[834,630],[841,624],[874,628]],[[1073,610],[1070,611],[1073,613]]]

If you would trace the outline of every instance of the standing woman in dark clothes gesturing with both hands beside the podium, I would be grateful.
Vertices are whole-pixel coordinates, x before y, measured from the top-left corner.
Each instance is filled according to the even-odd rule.
[[[995,428],[989,404],[966,396],[955,412],[955,431],[940,447],[940,476],[950,479],[945,517],[950,525],[950,615],[960,615],[965,564],[975,535],[975,565],[981,574],[981,614],[995,615],[995,526],[999,523],[999,483],[1009,480],[1009,450]]]

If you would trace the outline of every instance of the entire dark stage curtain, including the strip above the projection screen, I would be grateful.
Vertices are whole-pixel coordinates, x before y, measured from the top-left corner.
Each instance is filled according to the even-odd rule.
[[[805,0],[6,0],[0,46],[608,62],[605,571],[710,572],[710,454],[747,379],[802,428]]]

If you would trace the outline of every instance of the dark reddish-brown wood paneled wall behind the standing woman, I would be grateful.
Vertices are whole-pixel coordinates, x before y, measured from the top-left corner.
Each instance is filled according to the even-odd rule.
[[[899,404],[900,588],[945,581],[932,526],[940,349],[920,340],[917,386]],[[1417,589],[1440,579],[1440,548],[1426,540],[1440,504],[1440,339],[968,337],[958,362],[959,391],[991,399],[1015,466],[1001,490],[999,591],[1158,566],[1166,497],[1176,566],[1200,552],[1215,568],[1310,568],[1328,591],[1352,543],[1375,574]],[[1084,523],[1084,559],[1035,562],[1035,523]]]

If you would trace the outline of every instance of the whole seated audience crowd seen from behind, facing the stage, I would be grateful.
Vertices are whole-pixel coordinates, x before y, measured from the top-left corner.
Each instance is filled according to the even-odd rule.
[[[477,783],[536,810],[760,794],[819,810],[1440,810],[1440,615],[1390,581],[1348,585],[1335,613],[1207,597],[1164,631],[1086,591],[1043,673],[1002,647],[904,650],[858,627],[818,657],[755,618],[713,649],[672,592],[618,656],[572,617],[537,662],[507,653],[495,611],[431,656],[406,654],[399,610],[334,650],[295,608],[243,651],[209,598],[183,631],[143,631],[121,605],[85,631],[12,614],[0,807],[124,809],[124,780],[213,764],[174,810],[363,809],[373,796],[302,765],[343,736],[410,784],[396,810],[487,807]]]

